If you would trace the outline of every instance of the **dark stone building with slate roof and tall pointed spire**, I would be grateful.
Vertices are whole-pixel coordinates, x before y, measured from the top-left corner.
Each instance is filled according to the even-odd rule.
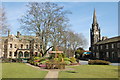
[[[107,38],[102,37],[97,22],[96,11],[94,10],[93,24],[90,29],[90,50],[94,59],[118,62],[120,59],[120,36]]]

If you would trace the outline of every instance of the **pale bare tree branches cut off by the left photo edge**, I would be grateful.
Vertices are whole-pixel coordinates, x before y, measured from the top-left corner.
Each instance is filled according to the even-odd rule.
[[[0,5],[0,34],[6,34],[8,29],[5,9],[2,5]]]

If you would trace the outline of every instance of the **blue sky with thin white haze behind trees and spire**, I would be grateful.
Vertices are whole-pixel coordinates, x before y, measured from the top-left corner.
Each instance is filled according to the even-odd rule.
[[[3,2],[11,34],[19,30],[17,19],[25,14],[26,2]],[[70,10],[70,29],[76,33],[82,33],[90,43],[90,28],[92,27],[93,11],[96,9],[97,21],[102,36],[114,37],[118,35],[118,3],[117,2],[57,2],[64,6],[64,10]],[[89,47],[89,45],[88,45]],[[86,49],[88,49],[88,47]]]

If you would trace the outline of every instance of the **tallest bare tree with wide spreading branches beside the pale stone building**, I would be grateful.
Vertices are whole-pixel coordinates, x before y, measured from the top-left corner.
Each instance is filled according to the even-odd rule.
[[[39,34],[42,43],[42,53],[45,54],[48,43],[56,46],[60,42],[60,35],[66,28],[68,11],[55,3],[29,3],[28,10],[20,19],[21,29]]]

